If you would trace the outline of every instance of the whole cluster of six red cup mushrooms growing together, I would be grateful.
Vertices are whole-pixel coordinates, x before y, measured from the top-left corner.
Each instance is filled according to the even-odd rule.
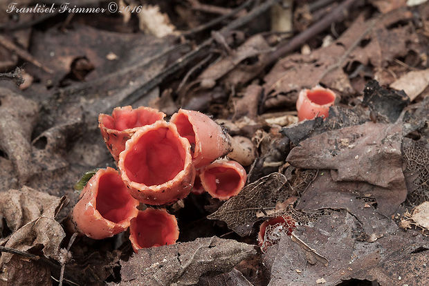
[[[140,203],[172,204],[193,187],[194,193],[207,191],[219,200],[241,191],[243,166],[217,160],[234,145],[221,126],[203,113],[183,109],[170,122],[164,118],[164,113],[143,106],[100,114],[100,131],[119,171],[100,169],[87,182],[73,209],[77,231],[102,239],[129,227],[134,251],[171,245],[179,238],[176,218],[165,209],[139,211]]]

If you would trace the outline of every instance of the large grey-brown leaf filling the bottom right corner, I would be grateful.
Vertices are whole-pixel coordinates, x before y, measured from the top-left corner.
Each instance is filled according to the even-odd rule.
[[[367,211],[365,218],[372,220],[372,211]],[[334,211],[312,225],[295,229],[296,236],[327,258],[327,266],[322,261],[309,264],[307,250],[289,236],[282,236],[277,245],[268,247],[262,255],[271,277],[269,285],[314,285],[321,277],[325,285],[338,285],[351,278],[397,285],[398,276],[401,285],[429,283],[424,270],[429,262],[426,254],[429,245],[423,236],[400,231],[392,220],[378,216],[377,223],[385,229],[383,238],[368,243],[356,237],[362,227],[359,220],[347,211]],[[298,274],[295,269],[302,272]]]

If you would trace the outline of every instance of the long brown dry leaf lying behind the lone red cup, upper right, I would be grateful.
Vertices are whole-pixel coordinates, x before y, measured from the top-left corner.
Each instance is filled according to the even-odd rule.
[[[411,17],[412,14],[408,10],[395,10],[383,19],[378,19],[367,37],[363,39],[368,43],[358,45],[349,55],[346,54],[347,50],[355,44],[359,35],[365,35],[374,19],[365,21],[363,17],[358,17],[330,46],[313,50],[310,55],[292,54],[277,61],[264,78],[266,82],[264,90],[267,95],[264,106],[266,108],[278,108],[280,104],[293,106],[302,88],[311,88],[320,83],[338,90],[341,94],[353,93],[354,88],[345,73],[347,66],[354,62],[364,66],[370,63],[376,70],[386,66],[395,57],[406,55],[410,47],[405,42],[418,41],[415,33],[410,32],[407,27],[392,29],[388,27],[396,21],[405,21]],[[326,70],[338,64],[338,60],[345,54],[347,57],[340,63],[340,68],[335,68],[325,75]],[[320,79],[322,75],[325,76]]]

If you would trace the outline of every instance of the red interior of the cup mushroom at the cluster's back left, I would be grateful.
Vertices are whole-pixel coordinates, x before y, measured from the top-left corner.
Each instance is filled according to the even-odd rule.
[[[124,131],[125,129],[154,124],[162,119],[163,113],[150,109],[115,109],[111,116],[102,117],[102,124],[109,129]]]

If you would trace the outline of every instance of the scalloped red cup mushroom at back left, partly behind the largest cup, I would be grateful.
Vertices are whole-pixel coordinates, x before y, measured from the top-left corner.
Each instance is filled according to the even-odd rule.
[[[125,149],[125,142],[138,128],[154,124],[164,117],[164,113],[150,107],[141,106],[136,109],[131,106],[116,107],[111,115],[98,115],[98,127],[113,159],[118,162],[119,153]]]

